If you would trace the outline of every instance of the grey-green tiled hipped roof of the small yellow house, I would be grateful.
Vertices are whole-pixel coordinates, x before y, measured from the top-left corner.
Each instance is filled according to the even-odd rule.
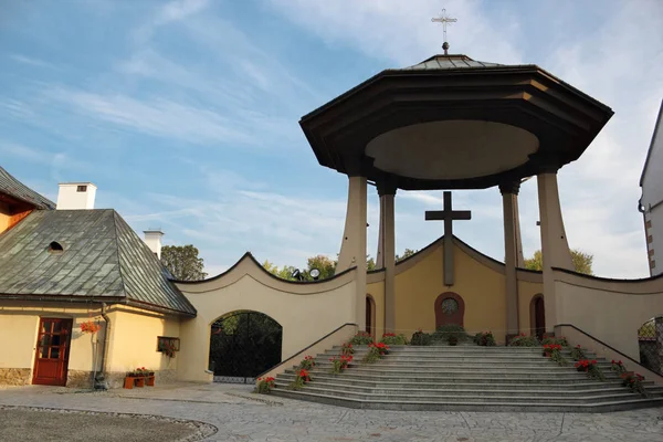
[[[63,252],[49,251],[56,241]],[[113,209],[34,211],[0,234],[0,298],[63,296],[196,314]]]

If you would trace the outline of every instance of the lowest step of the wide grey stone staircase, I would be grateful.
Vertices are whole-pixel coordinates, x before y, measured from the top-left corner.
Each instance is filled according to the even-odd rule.
[[[275,396],[307,400],[333,406],[367,409],[367,410],[397,410],[397,411],[496,411],[496,412],[611,412],[621,410],[633,410],[646,407],[663,406],[663,398],[654,399],[628,399],[600,403],[567,403],[527,402],[527,401],[494,401],[494,402],[434,402],[434,401],[375,401],[341,399],[326,394],[308,393],[306,391],[290,391],[274,389]]]

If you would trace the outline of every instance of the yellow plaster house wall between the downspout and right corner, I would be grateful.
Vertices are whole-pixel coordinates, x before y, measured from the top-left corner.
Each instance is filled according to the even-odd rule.
[[[180,319],[138,308],[119,307],[108,313],[110,345],[107,371],[127,371],[137,367],[150,370],[175,370],[175,358],[157,351],[157,337],[180,337]]]

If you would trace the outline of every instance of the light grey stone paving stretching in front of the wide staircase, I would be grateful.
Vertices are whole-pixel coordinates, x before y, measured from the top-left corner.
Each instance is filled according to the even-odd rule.
[[[206,441],[663,442],[663,409],[606,414],[373,411],[250,391],[248,386],[181,383],[110,392],[30,386],[0,389],[0,404],[191,419],[218,428]]]

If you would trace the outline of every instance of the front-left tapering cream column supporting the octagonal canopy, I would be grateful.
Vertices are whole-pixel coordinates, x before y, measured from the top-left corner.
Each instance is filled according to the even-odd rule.
[[[360,330],[366,328],[366,178],[348,177],[348,209],[338,254],[336,273],[357,267],[354,317]]]

